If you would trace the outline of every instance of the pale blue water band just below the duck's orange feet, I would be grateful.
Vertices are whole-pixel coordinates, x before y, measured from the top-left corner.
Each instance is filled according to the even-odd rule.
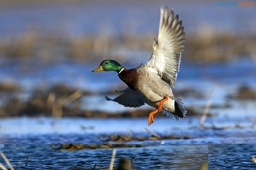
[[[248,117],[208,117],[206,126],[214,124],[217,128],[230,125],[222,130],[202,129],[200,117],[185,117],[171,120],[168,117],[155,118],[147,125],[145,118],[70,118],[56,120],[51,117],[17,117],[0,120],[0,143],[85,143],[102,144],[99,138],[108,134],[129,134],[131,136],[151,136],[145,128],[160,136],[171,134],[189,136],[190,139],[162,139],[157,141],[137,141],[127,143],[141,144],[207,144],[207,143],[255,143],[256,132]],[[237,128],[239,125],[241,128]]]

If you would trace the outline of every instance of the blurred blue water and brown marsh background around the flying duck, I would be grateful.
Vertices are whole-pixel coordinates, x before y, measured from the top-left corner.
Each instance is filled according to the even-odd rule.
[[[209,96],[209,115],[214,118],[207,118],[206,123],[233,128],[255,123],[255,6],[230,7],[218,1],[200,0],[3,0],[1,133],[99,134],[116,132],[116,126],[121,132],[140,131],[147,126],[147,116],[153,108],[127,108],[106,101],[105,96],[114,98],[118,95],[115,90],[123,90],[126,85],[116,72],[91,71],[106,58],[127,68],[146,63],[151,57],[153,39],[157,39],[161,6],[174,9],[186,32],[173,91],[184,101],[188,113],[180,122],[159,113],[159,121],[156,118],[150,128],[163,134],[189,134],[188,127],[199,125]],[[56,128],[47,117],[64,118]],[[173,126],[185,127],[182,131],[187,133],[175,131]],[[15,139],[10,138],[9,142]]]

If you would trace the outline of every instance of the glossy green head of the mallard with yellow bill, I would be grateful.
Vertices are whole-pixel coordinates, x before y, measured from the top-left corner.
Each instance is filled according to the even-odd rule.
[[[124,67],[120,63],[113,60],[105,60],[100,63],[97,69],[94,69],[92,72],[101,72],[101,71],[116,71],[120,72]]]

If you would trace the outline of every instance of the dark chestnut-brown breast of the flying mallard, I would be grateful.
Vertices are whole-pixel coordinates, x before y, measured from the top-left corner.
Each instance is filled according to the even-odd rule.
[[[136,90],[138,88],[139,75],[137,69],[125,69],[118,74],[119,78],[125,82],[129,88]]]

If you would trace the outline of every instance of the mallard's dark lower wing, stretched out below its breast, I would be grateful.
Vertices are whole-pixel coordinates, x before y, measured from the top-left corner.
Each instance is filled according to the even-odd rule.
[[[142,105],[144,105],[144,101],[138,98],[136,92],[131,90],[130,88],[126,88],[124,90],[116,92],[122,92],[122,94],[114,99],[105,96],[106,99],[108,101],[116,101],[118,104],[124,105],[124,107],[141,107]]]

